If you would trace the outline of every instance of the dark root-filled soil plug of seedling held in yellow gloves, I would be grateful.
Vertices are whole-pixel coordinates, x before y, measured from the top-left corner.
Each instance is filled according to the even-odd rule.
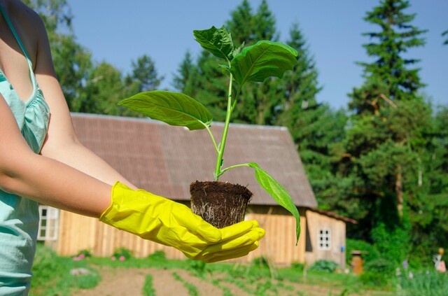
[[[239,184],[195,181],[190,184],[191,210],[218,228],[244,220],[252,192]]]

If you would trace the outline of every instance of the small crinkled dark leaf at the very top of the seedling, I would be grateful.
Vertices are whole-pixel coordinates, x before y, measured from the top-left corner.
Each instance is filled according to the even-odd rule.
[[[193,35],[195,35],[195,40],[200,43],[202,48],[211,52],[215,57],[227,61],[232,59],[233,41],[224,26],[220,29],[211,27],[207,30],[194,30]]]

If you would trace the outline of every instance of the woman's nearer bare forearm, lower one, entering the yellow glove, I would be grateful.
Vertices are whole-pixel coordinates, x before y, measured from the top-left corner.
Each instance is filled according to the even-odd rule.
[[[1,94],[0,139],[1,190],[97,218],[110,205],[111,185],[29,148]]]

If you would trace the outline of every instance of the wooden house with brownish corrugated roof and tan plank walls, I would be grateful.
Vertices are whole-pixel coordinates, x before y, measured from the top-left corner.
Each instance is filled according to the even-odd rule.
[[[107,115],[73,113],[72,118],[80,141],[139,188],[188,205],[190,183],[214,178],[216,154],[205,130],[190,131],[150,119]],[[211,130],[218,142],[223,124],[214,123]],[[256,251],[233,261],[251,262],[265,256],[276,265],[290,265],[328,259],[344,267],[345,223],[353,220],[317,209],[288,129],[232,124],[224,161],[225,167],[257,162],[293,197],[302,226],[296,246],[295,219],[260,188],[253,169],[244,167],[226,172],[220,181],[248,185],[253,192],[246,218],[258,220],[266,230]],[[124,247],[139,258],[158,250],[165,251],[167,258],[185,258],[174,248],[145,241],[97,219],[48,206],[41,206],[39,239],[45,240],[59,255],[76,255],[88,249],[97,256],[110,256],[116,248]]]

